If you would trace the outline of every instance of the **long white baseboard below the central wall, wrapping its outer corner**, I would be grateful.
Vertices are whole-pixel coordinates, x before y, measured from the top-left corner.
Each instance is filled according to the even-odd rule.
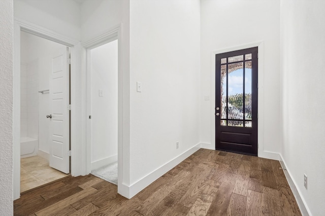
[[[152,171],[147,176],[143,177],[138,182],[132,184],[131,186],[127,186],[124,184],[118,185],[118,193],[122,196],[131,199],[133,196],[135,196],[137,193],[142,191],[145,187],[153,183],[155,180],[157,180],[159,177],[163,176],[174,168],[176,165],[178,165],[180,162],[185,160],[188,156],[193,154],[194,152],[198,151],[201,147],[201,143],[193,146],[192,148],[188,149],[184,153],[180,154],[179,156],[175,157],[171,161],[167,162],[166,164],[160,166],[156,170]]]

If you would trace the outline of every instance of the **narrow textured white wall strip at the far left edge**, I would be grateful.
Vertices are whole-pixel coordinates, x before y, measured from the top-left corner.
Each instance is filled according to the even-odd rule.
[[[13,214],[13,2],[0,1],[0,215]]]

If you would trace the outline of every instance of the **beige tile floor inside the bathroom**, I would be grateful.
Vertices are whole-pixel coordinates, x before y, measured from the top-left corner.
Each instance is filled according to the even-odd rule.
[[[20,159],[20,193],[70,176],[49,166],[41,156]]]

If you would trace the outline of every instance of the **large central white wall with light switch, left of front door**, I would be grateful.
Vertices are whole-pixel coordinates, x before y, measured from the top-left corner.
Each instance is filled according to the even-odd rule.
[[[200,143],[200,1],[130,2],[130,94],[132,185]]]

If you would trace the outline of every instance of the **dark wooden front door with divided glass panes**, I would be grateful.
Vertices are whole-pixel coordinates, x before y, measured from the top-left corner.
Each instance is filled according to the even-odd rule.
[[[257,47],[217,54],[216,149],[257,156]]]

